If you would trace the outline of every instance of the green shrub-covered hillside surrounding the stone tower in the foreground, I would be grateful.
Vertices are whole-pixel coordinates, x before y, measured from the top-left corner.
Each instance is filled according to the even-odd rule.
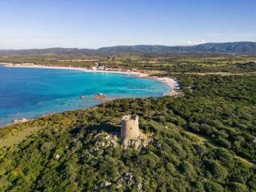
[[[0,130],[2,191],[256,191],[254,74],[177,76],[177,97],[121,99],[89,110]],[[141,150],[122,149],[122,115],[138,114],[153,134]]]

